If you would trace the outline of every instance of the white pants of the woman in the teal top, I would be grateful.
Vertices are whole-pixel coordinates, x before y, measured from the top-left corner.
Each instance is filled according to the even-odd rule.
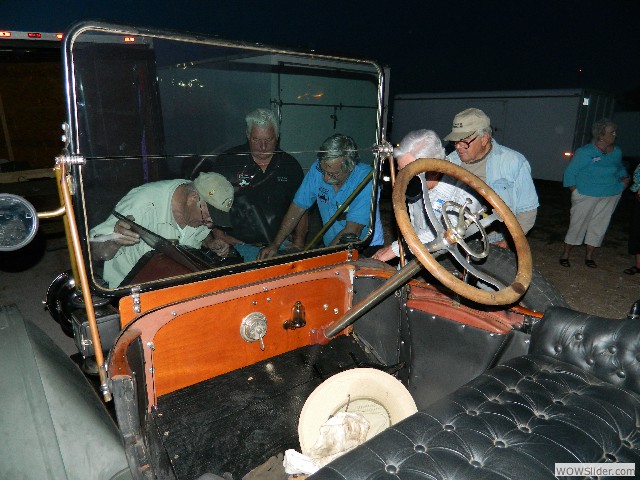
[[[578,190],[571,192],[571,221],[564,242],[569,245],[586,243],[602,245],[611,215],[618,205],[620,194],[611,197],[590,197]]]

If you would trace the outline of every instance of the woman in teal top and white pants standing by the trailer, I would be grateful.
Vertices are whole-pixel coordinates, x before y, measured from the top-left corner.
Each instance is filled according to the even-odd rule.
[[[569,267],[574,245],[586,245],[584,263],[596,268],[593,253],[602,245],[611,215],[618,205],[629,176],[622,152],[614,145],[616,124],[603,118],[593,124],[591,143],[583,145],[564,172],[564,186],[571,190],[571,220],[564,239],[560,265]]]

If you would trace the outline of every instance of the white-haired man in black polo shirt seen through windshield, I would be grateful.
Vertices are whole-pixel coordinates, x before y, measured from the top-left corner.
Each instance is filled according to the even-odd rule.
[[[234,187],[235,200],[229,218],[216,223],[230,229],[214,229],[214,238],[232,245],[245,261],[255,260],[261,246],[275,238],[284,215],[304,177],[298,161],[278,149],[279,128],[271,110],[258,108],[245,118],[247,143],[203,162],[200,171],[224,175]],[[294,229],[289,249],[304,246],[308,216]]]

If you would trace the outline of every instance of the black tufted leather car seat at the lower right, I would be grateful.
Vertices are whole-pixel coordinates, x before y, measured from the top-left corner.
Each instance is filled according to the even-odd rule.
[[[553,479],[555,463],[640,468],[640,321],[564,308],[499,365],[313,479]]]

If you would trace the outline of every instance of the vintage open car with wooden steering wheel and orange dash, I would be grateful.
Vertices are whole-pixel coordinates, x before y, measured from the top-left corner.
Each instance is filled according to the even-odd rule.
[[[567,463],[633,471],[637,310],[604,319],[567,308],[532,268],[508,207],[465,170],[421,159],[396,175],[384,68],[100,22],[73,26],[63,58],[63,205],[37,213],[1,195],[0,248],[25,245],[39,221],[65,215],[73,268],[47,303],[95,361],[100,396],[15,306],[1,307],[1,478],[546,479]],[[242,144],[257,107],[277,113],[280,148],[305,173],[325,138],[355,139],[373,172],[358,186],[370,198],[367,235],[324,246],[312,208],[303,249],[247,260],[179,248],[129,218],[149,253],[120,283],[105,282],[92,229],[131,189],[191,179]],[[408,246],[398,267],[361,254],[378,202],[389,202],[378,193],[385,163]],[[486,208],[449,203],[457,220],[441,219],[427,197],[437,235],[423,245],[405,199],[427,171],[466,183]],[[515,257],[487,242],[501,224]],[[496,258],[512,261],[489,268]]]

